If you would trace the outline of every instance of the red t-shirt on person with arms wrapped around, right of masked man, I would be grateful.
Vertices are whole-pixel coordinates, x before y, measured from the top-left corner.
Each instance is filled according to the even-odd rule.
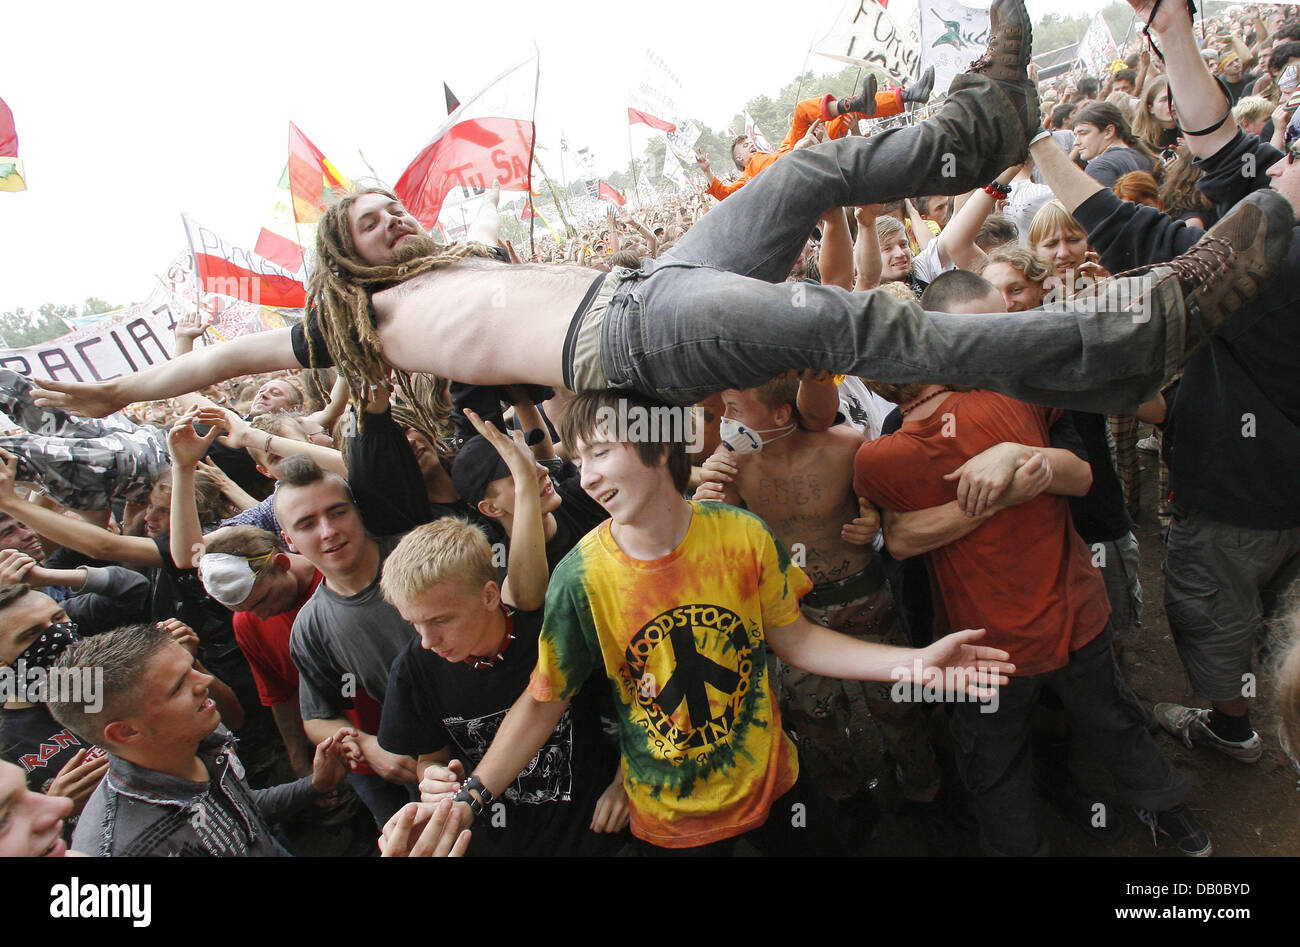
[[[1050,414],[993,392],[949,394],[928,418],[863,444],[854,487],[885,510],[942,506],[957,498],[957,481],[944,475],[980,451],[1004,441],[1049,446]],[[1110,619],[1105,583],[1065,497],[1040,493],[1002,510],[932,550],[930,570],[946,631],[988,628],[980,644],[1009,652],[1017,675],[1065,666]]]

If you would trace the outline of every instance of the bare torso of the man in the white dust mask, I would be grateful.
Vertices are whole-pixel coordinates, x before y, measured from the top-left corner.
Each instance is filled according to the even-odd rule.
[[[796,544],[803,549],[803,571],[812,581],[862,571],[871,562],[871,546],[846,542],[840,535],[858,515],[853,459],[862,436],[838,425],[816,433],[796,431],[790,441],[792,451],[764,449],[736,457],[737,493],[792,554]]]

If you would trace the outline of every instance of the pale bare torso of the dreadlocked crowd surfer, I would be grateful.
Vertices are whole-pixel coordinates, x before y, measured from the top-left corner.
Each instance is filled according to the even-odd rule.
[[[564,337],[599,271],[471,258],[374,294],[384,356],[471,385],[562,388]]]

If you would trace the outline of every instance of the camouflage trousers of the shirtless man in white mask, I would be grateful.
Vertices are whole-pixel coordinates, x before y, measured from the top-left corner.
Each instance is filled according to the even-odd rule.
[[[861,594],[844,604],[818,604],[822,597],[832,601],[844,597],[835,592],[845,589],[850,593],[858,589]],[[801,610],[810,622],[858,640],[909,647],[878,563],[836,587],[815,587]],[[879,774],[867,732],[868,721],[875,719],[885,747],[898,764],[904,795],[909,799],[933,796],[939,787],[939,765],[919,704],[890,700],[890,682],[823,678],[775,657],[772,661],[781,717],[794,734],[800,769],[827,795],[848,797]]]

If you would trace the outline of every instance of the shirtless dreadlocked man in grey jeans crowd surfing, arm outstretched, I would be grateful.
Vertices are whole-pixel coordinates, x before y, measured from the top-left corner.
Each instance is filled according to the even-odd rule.
[[[689,405],[798,368],[1131,411],[1277,271],[1294,225],[1284,199],[1257,191],[1182,258],[1102,285],[1095,306],[1031,319],[780,282],[828,208],[962,194],[1023,161],[1039,131],[1023,0],[994,3],[989,35],[932,118],[788,155],[638,271],[502,265],[481,245],[434,243],[391,193],[369,189],[321,221],[306,325],[105,382],[42,382],[39,403],[99,415],[333,360],[356,401],[394,369],[399,381],[433,372],[480,385],[634,388]]]

